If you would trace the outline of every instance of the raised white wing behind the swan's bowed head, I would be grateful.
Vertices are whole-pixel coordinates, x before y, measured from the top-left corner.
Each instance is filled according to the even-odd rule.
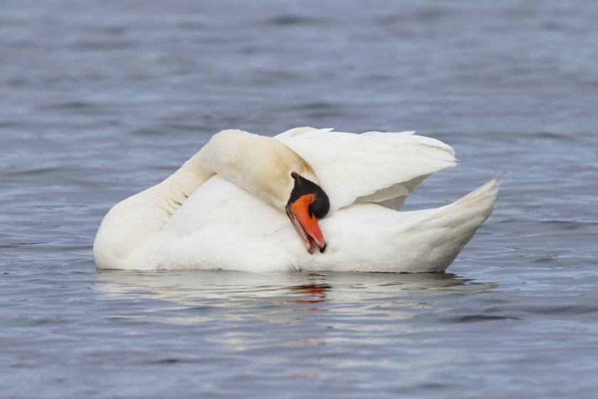
[[[453,149],[414,132],[368,132],[295,128],[276,139],[312,165],[330,197],[330,211],[354,202],[398,209],[421,180],[456,164]]]

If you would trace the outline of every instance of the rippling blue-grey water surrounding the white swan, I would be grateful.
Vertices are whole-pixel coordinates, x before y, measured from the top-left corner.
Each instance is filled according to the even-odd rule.
[[[1,398],[592,398],[598,5],[1,1]],[[96,271],[223,128],[418,130],[503,178],[448,274]]]

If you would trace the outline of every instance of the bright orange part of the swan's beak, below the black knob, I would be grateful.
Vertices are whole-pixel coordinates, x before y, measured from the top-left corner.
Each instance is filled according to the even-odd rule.
[[[315,219],[313,213],[310,211],[310,205],[313,202],[315,195],[302,195],[293,203],[289,203],[286,207],[286,212],[290,222],[297,231],[303,245],[308,249],[310,254],[313,254],[315,249],[314,244],[318,246],[320,252],[326,250],[326,242],[324,236],[318,226],[318,220]]]

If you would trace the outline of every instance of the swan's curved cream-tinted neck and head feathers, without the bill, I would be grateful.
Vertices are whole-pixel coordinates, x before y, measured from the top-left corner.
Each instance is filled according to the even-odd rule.
[[[216,173],[284,212],[293,190],[291,172],[318,182],[310,165],[278,140],[241,130],[216,133],[177,172],[110,209],[95,237],[95,263],[112,268],[126,264]]]

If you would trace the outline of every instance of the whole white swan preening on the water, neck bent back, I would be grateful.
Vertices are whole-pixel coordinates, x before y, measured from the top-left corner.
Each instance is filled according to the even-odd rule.
[[[454,165],[451,147],[412,132],[224,130],[164,182],[110,209],[95,261],[105,269],[444,271],[491,214],[498,182],[444,207],[397,211],[425,177]]]

